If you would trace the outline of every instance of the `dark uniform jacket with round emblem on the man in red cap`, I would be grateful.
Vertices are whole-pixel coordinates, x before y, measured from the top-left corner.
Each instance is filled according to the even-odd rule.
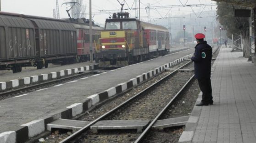
[[[207,44],[207,41],[196,45],[191,61],[194,61],[197,79],[211,77],[212,47]]]

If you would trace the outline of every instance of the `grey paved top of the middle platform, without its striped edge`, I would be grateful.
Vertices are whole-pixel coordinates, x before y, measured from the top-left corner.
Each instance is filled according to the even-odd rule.
[[[53,116],[67,106],[83,102],[88,96],[126,82],[142,73],[193,53],[194,49],[126,66],[117,70],[67,82],[31,92],[27,95],[0,101],[0,133],[15,131],[21,124]]]

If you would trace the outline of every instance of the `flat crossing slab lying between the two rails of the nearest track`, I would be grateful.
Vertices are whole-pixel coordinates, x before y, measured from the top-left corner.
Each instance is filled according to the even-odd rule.
[[[142,132],[150,123],[150,120],[107,120],[99,121],[91,126],[93,133],[98,130],[123,130],[123,129],[136,129],[138,133]]]

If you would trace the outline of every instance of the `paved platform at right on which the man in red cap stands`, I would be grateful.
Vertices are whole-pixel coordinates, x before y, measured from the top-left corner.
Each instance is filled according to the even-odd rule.
[[[212,67],[213,105],[194,107],[179,143],[256,143],[256,66],[231,50]]]

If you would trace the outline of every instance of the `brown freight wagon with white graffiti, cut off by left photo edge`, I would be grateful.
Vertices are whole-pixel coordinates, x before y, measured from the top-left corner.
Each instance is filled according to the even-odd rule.
[[[36,56],[34,26],[22,15],[0,12],[0,70],[21,72]]]

